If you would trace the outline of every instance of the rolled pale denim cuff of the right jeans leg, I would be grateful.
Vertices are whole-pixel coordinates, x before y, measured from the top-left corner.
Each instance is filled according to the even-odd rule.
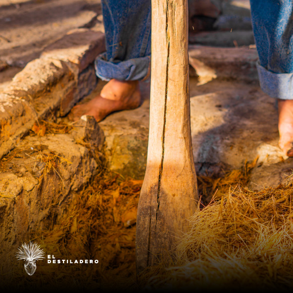
[[[256,63],[261,89],[272,98],[293,100],[293,73],[273,73]]]

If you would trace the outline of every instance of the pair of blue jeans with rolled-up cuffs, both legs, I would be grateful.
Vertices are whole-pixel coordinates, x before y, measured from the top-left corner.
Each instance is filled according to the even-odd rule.
[[[262,90],[293,99],[293,1],[250,0]],[[102,80],[143,80],[150,63],[151,0],[102,0],[106,52],[95,61]]]

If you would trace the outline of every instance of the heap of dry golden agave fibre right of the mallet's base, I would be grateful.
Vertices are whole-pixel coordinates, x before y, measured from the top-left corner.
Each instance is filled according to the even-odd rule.
[[[175,261],[141,275],[145,289],[293,288],[292,195],[292,178],[261,191],[230,188],[190,218]]]

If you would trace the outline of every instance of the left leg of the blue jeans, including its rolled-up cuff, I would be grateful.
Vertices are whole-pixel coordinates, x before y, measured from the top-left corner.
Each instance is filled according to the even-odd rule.
[[[151,49],[151,0],[102,0],[106,52],[95,60],[105,81],[144,80]]]

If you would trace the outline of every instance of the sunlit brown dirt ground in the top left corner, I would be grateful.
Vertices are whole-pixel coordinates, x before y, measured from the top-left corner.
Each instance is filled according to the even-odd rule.
[[[0,91],[48,44],[93,26],[104,30],[100,0],[0,0]]]

